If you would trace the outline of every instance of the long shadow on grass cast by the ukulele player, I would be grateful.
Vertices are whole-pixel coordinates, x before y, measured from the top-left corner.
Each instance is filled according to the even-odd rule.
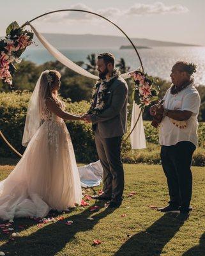
[[[183,225],[171,214],[165,214],[143,232],[139,232],[126,241],[115,256],[160,256],[165,244]]]

